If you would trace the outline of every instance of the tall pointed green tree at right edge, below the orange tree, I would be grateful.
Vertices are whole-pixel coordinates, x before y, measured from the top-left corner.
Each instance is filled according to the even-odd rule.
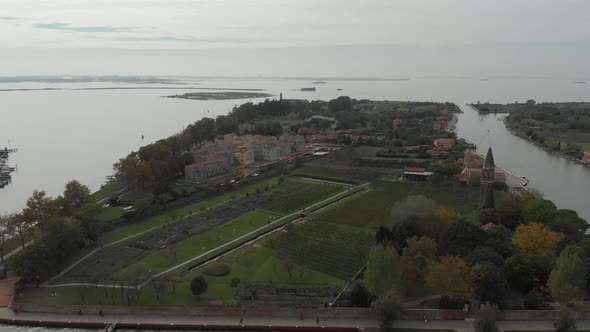
[[[566,248],[549,275],[549,290],[559,302],[581,300],[586,296],[586,268],[573,248]]]

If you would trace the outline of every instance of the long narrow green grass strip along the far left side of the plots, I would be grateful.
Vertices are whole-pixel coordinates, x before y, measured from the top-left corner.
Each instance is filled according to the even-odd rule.
[[[277,185],[277,184],[278,184],[278,177],[275,177],[275,178],[265,180],[265,181],[253,184],[251,186],[242,188],[237,191],[231,191],[231,192],[225,193],[223,195],[219,195],[214,198],[211,198],[211,199],[208,199],[205,201],[201,201],[201,202],[189,205],[189,206],[178,208],[173,211],[162,213],[160,215],[153,216],[153,217],[150,217],[148,219],[145,219],[145,220],[142,220],[139,222],[129,223],[127,225],[118,227],[115,230],[112,230],[110,232],[103,234],[101,236],[100,240],[102,243],[111,243],[111,242],[126,238],[128,236],[149,230],[151,228],[160,226],[160,225],[164,224],[166,221],[170,221],[172,219],[186,216],[191,213],[198,212],[200,210],[211,208],[215,205],[221,205],[224,202],[227,202],[232,199],[236,199],[236,198],[244,196],[246,194],[255,193],[256,189],[258,189],[258,188],[264,188],[267,185]]]

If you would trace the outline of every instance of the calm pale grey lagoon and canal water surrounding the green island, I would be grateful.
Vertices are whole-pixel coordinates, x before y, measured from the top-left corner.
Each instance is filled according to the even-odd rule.
[[[467,102],[590,101],[590,84],[570,80],[412,78],[408,81],[327,81],[316,92],[311,80],[207,79],[200,87],[261,88],[284,98],[328,100],[339,95],[375,100],[452,101],[460,105],[458,134],[487,149],[491,144],[497,163],[531,179],[531,186],[560,208],[578,211],[590,220],[590,169],[550,155],[510,135],[501,116],[479,116]],[[131,84],[3,84],[0,89],[31,87],[105,87]],[[195,85],[197,86],[197,85]],[[182,86],[179,86],[182,87]],[[337,88],[342,91],[336,91]],[[96,190],[112,164],[131,150],[178,132],[204,116],[226,113],[247,100],[194,101],[161,98],[187,90],[84,90],[0,92],[0,146],[11,142],[18,153],[12,184],[0,189],[0,213],[20,210],[34,189],[50,195],[77,179]],[[257,101],[257,100],[253,100]],[[489,130],[489,131],[488,131]],[[141,135],[145,140],[141,140]]]

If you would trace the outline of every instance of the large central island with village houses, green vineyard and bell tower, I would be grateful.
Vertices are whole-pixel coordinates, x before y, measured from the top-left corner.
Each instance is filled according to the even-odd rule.
[[[1,218],[14,318],[386,328],[464,320],[474,300],[556,317],[549,302],[586,294],[588,224],[458,137],[458,112],[248,102],[123,156],[96,193],[36,191]]]

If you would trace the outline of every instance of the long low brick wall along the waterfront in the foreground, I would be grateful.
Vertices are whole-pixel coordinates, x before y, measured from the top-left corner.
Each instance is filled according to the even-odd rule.
[[[285,318],[320,318],[320,319],[356,319],[371,320],[371,309],[365,308],[138,308],[138,307],[89,307],[89,306],[45,306],[19,304],[19,312],[77,314],[82,309],[84,314],[98,314],[102,310],[106,315],[140,315],[140,316],[193,316],[193,317],[285,317]],[[403,310],[400,319],[422,320],[463,320],[465,315],[460,310],[408,309]]]

